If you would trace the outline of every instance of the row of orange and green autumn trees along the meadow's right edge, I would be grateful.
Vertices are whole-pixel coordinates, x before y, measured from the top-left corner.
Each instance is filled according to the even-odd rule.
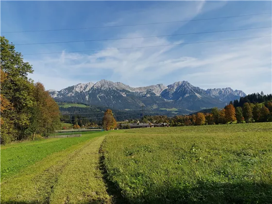
[[[197,112],[192,115],[175,116],[172,118],[167,116],[145,116],[142,121],[152,123],[166,122],[170,123],[170,126],[270,122],[272,121],[272,101],[270,100],[272,100],[271,94],[250,94],[246,97],[241,97],[239,101],[231,101],[222,109],[214,107],[208,113]]]

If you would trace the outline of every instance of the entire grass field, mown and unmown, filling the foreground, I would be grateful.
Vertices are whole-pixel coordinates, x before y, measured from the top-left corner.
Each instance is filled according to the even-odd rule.
[[[269,204],[271,123],[86,132],[0,146],[0,204]]]

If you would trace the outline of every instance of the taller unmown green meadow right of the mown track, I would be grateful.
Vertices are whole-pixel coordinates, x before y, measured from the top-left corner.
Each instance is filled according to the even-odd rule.
[[[111,132],[103,150],[129,203],[272,202],[272,123]]]

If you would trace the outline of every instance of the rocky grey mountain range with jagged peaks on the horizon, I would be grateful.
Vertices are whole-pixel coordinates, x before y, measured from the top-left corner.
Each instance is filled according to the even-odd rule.
[[[226,103],[246,94],[227,88],[202,89],[187,81],[171,85],[131,87],[120,82],[101,80],[69,86],[60,91],[49,90],[57,102],[81,102],[89,105],[136,109],[144,105],[151,109],[175,109],[179,113],[191,113],[205,108],[223,107]]]

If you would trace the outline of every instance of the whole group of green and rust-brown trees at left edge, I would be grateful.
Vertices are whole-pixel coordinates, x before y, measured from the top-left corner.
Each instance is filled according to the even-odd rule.
[[[61,126],[58,105],[29,73],[32,66],[0,36],[0,144],[48,136]]]

